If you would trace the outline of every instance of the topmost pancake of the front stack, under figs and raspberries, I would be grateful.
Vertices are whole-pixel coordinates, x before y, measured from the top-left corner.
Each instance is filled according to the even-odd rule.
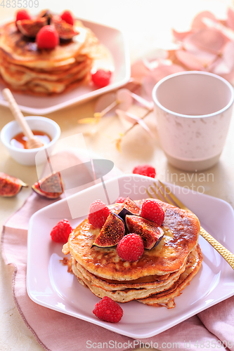
[[[136,201],[141,206],[142,201]],[[152,275],[176,272],[186,263],[188,255],[197,246],[200,223],[190,211],[182,210],[159,201],[165,211],[164,237],[154,249],[145,250],[143,256],[133,263],[123,261],[117,255],[116,247],[93,247],[100,230],[89,220],[84,220],[70,234],[63,253],[71,253],[88,272],[98,277],[127,281]],[[115,208],[114,208],[115,210]]]

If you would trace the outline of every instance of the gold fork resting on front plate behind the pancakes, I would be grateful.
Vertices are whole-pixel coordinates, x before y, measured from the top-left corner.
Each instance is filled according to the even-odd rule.
[[[157,199],[160,199],[164,202],[167,202],[168,204],[174,205],[176,204],[177,207],[183,208],[183,210],[187,210],[190,211],[190,209],[188,207],[186,207],[176,196],[175,194],[173,194],[173,192],[171,192],[171,190],[169,190],[168,187],[166,187],[166,185],[164,185],[162,182],[160,182],[160,180],[158,180],[158,182],[160,183],[160,185],[162,186],[164,192],[162,191],[161,187],[159,187],[155,182],[154,185],[156,187],[156,189],[160,192],[160,195],[155,191],[154,187],[152,187],[152,185],[150,185],[149,189],[152,190],[152,192],[155,194],[155,196],[157,197]],[[149,197],[152,197],[152,194],[150,194],[149,190],[146,189],[147,194],[149,195]],[[168,196],[169,195],[169,196]],[[153,197],[152,197],[153,198]],[[171,199],[174,201],[171,201]],[[206,230],[204,230],[204,228],[200,227],[200,234],[202,235],[202,237],[204,237],[204,239],[206,239],[209,244],[211,244],[214,249],[216,249],[216,251],[218,251],[221,256],[223,256],[224,260],[227,261],[227,263],[230,265],[230,267],[233,268],[234,270],[234,255],[233,253],[231,253],[230,251],[228,251],[228,249],[226,249],[223,245],[221,245],[219,243],[219,241],[217,241],[216,239],[214,239],[212,237],[211,234],[207,233]]]

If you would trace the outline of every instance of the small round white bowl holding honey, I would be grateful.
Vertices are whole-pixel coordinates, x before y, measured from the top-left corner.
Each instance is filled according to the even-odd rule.
[[[58,124],[55,121],[52,121],[52,119],[39,116],[29,116],[25,117],[25,119],[32,130],[47,133],[51,137],[51,142],[37,149],[19,149],[18,147],[12,146],[11,139],[18,133],[22,132],[17,121],[11,121],[10,123],[6,124],[6,126],[4,126],[4,128],[1,130],[0,138],[1,142],[4,144],[15,161],[25,166],[33,166],[35,164],[37,152],[45,149],[52,150],[56,141],[60,137],[61,131]]]

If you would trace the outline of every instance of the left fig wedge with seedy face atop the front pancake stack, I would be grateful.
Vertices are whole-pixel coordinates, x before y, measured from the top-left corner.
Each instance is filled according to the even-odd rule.
[[[105,221],[100,234],[94,241],[93,246],[110,247],[115,246],[124,237],[125,223],[117,214],[110,212],[108,219]]]

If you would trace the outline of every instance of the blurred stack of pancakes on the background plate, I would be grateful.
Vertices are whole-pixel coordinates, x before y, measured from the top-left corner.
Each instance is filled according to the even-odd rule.
[[[11,90],[32,95],[56,95],[89,81],[93,60],[107,55],[91,29],[74,21],[78,32],[70,40],[60,41],[56,48],[37,48],[7,23],[0,28],[0,81]]]

